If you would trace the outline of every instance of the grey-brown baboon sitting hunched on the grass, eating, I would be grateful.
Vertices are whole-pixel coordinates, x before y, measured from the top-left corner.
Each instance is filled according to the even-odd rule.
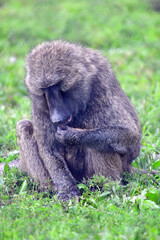
[[[119,180],[140,151],[141,127],[100,52],[65,41],[38,45],[26,60],[32,122],[17,124],[20,166],[60,199],[80,195],[77,181]]]

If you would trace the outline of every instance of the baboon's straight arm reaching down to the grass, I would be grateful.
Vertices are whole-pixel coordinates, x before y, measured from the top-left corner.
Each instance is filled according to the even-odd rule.
[[[39,155],[54,183],[54,189],[65,199],[71,195],[79,195],[76,180],[71,175],[63,158],[63,148],[56,147],[55,129],[44,112],[32,110],[34,136],[37,141]],[[58,143],[57,143],[58,145]],[[60,154],[62,153],[62,155]]]

